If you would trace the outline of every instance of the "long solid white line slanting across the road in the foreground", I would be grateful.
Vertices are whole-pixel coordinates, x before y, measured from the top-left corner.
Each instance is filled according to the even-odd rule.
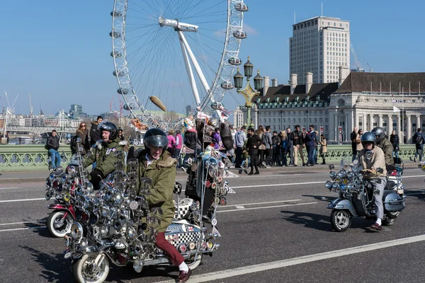
[[[385,241],[380,243],[372,243],[365,246],[357,246],[353,248],[344,248],[342,250],[331,250],[325,253],[316,253],[314,255],[305,255],[297,258],[288,258],[286,260],[277,260],[274,262],[265,262],[258,265],[249,265],[231,270],[221,270],[217,272],[205,273],[203,275],[191,276],[191,282],[207,282],[219,279],[225,279],[238,275],[246,275],[249,273],[262,272],[264,270],[273,270],[276,268],[288,267],[293,265],[302,265],[307,262],[314,262],[318,260],[327,260],[329,258],[339,258],[341,256],[353,255],[356,253],[365,253],[370,250],[380,250],[382,248],[390,248],[393,246],[401,246],[407,243],[417,243],[425,241],[425,235],[413,236],[409,238],[399,238],[397,240]],[[174,282],[174,280],[167,280],[157,283]]]

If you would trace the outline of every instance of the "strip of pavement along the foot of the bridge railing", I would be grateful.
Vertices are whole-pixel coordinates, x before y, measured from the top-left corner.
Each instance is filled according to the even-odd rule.
[[[328,163],[330,164],[330,163]],[[336,168],[339,165],[338,162],[333,163]],[[404,162],[404,168],[411,169],[417,168],[419,163],[414,163],[412,161]],[[230,168],[230,172],[235,173],[239,176],[246,175],[249,173],[249,168],[246,169],[238,169],[238,168]],[[329,171],[329,165],[315,165],[309,167],[271,167],[266,169],[261,169],[260,171],[264,171],[268,174],[292,174],[298,172],[320,172],[320,171]],[[49,175],[49,171],[16,171],[16,172],[1,172],[0,171],[0,184],[8,184],[8,183],[28,183],[28,182],[42,182],[46,180]],[[177,176],[186,176],[186,173],[178,170]]]

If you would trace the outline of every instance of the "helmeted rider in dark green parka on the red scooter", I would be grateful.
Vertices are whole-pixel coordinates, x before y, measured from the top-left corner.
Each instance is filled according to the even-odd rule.
[[[98,125],[102,139],[96,141],[96,147],[91,149],[91,154],[86,154],[85,166],[90,166],[96,162],[96,168],[90,173],[90,180],[94,189],[100,188],[101,180],[115,171],[115,151],[123,151],[126,141],[121,141],[118,137],[118,130],[111,122],[103,122]]]

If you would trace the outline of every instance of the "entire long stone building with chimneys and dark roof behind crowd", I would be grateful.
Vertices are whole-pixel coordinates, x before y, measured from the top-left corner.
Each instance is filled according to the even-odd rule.
[[[260,95],[253,98],[254,125],[273,130],[314,125],[330,144],[351,142],[354,127],[370,131],[378,126],[388,134],[395,129],[411,143],[416,128],[425,127],[425,73],[346,74],[346,67],[340,67],[339,82],[312,83],[313,74],[307,72],[302,85],[291,74],[288,85],[273,81],[272,86],[265,76]],[[394,106],[401,111],[394,112]]]

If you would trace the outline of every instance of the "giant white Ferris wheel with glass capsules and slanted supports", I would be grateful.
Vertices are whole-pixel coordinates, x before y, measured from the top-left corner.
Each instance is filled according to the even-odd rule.
[[[246,11],[239,0],[115,0],[111,56],[125,110],[148,127],[160,126],[152,96],[176,112],[210,112],[234,87]]]

